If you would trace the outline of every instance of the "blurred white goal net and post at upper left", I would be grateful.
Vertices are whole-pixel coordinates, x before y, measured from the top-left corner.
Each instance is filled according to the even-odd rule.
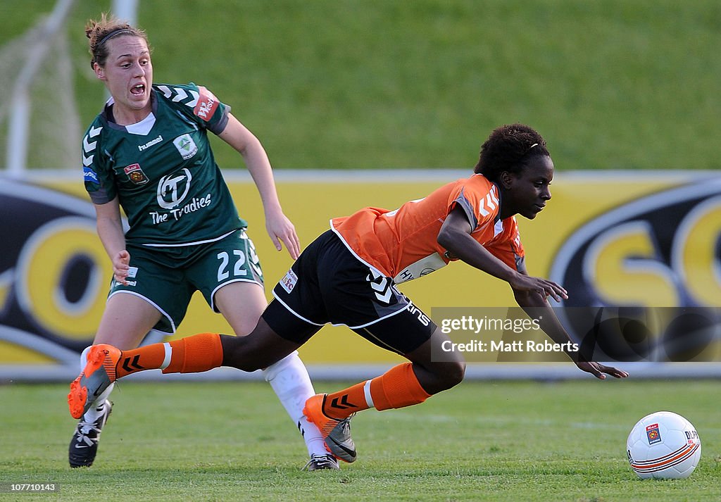
[[[73,0],[0,46],[0,162],[22,177],[27,167],[68,169],[79,163],[81,125],[65,19]]]

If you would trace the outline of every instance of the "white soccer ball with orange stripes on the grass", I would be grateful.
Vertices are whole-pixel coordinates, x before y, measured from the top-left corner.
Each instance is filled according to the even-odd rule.
[[[641,479],[683,479],[701,458],[701,439],[689,420],[659,411],[639,420],[626,441],[631,468]]]

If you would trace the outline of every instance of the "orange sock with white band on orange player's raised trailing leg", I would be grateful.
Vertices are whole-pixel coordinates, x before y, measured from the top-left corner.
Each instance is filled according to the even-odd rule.
[[[162,369],[163,373],[198,373],[217,368],[222,363],[220,335],[200,333],[123,351],[115,371],[118,378],[144,369]]]

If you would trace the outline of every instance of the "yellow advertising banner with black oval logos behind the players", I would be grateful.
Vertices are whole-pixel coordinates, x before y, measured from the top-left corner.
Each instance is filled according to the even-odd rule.
[[[565,307],[721,307],[721,177],[714,174],[557,173],[547,208],[534,221],[518,218],[528,272],[565,286]],[[397,208],[464,175],[280,172],[277,183],[286,215],[307,245],[332,217],[364,206]],[[229,176],[228,182],[249,221],[270,299],[291,257],[270,242],[249,177]],[[0,229],[0,365],[76,367],[79,352],[92,342],[111,278],[80,177],[0,179]],[[507,284],[461,262],[399,289],[428,314],[516,305]],[[230,328],[196,294],[174,337],[206,331]],[[331,326],[301,348],[301,357],[306,364],[398,360],[347,328]]]

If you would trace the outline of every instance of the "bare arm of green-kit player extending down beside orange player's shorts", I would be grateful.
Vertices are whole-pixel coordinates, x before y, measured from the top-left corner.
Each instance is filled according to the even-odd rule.
[[[291,221],[283,214],[283,209],[280,208],[278,192],[275,190],[275,180],[273,179],[273,169],[270,167],[270,160],[268,160],[262,144],[232,114],[228,115],[228,125],[218,137],[243,156],[258,193],[260,193],[263,211],[265,211],[265,229],[267,229],[275,249],[280,251],[282,249],[280,242],[284,242],[291,257],[295,260],[301,252],[298,234],[296,234],[296,229]]]

